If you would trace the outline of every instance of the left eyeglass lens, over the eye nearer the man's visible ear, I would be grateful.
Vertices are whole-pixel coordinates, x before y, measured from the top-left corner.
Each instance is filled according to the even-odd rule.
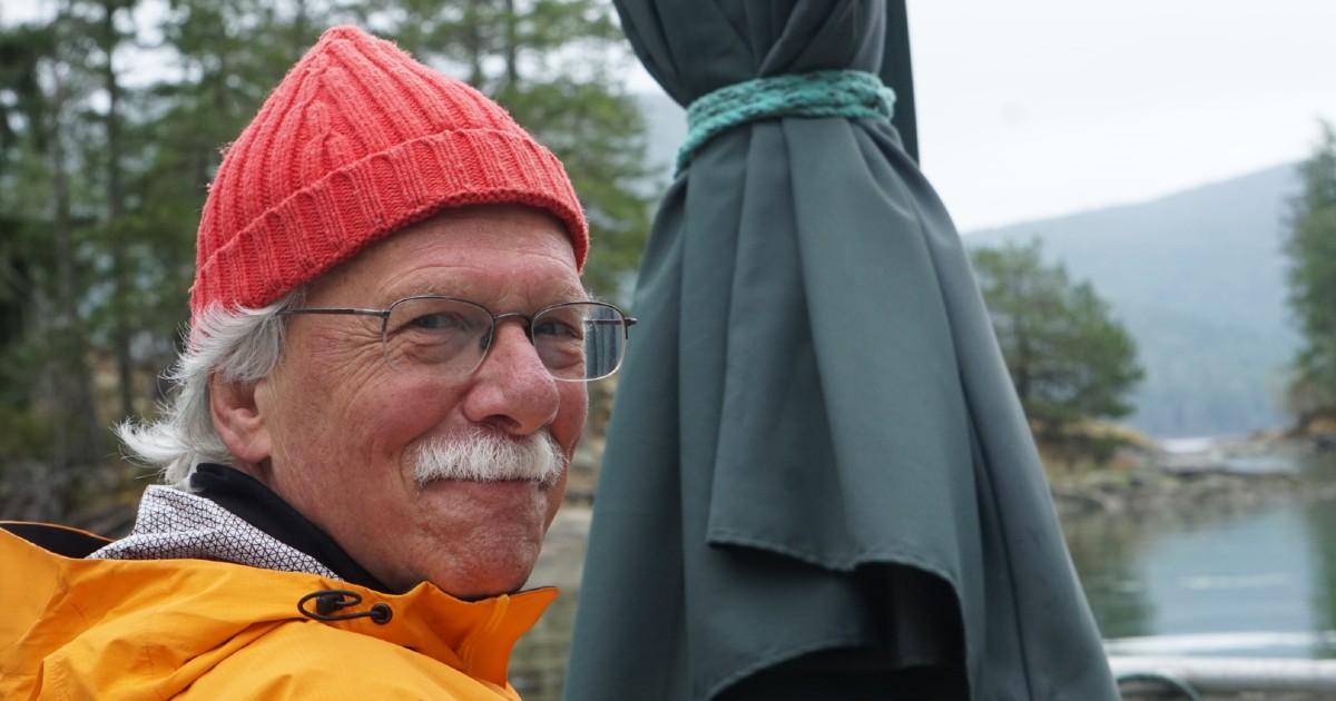
[[[492,315],[457,299],[409,298],[385,319],[385,358],[395,370],[429,367],[466,375],[478,367],[492,332]]]

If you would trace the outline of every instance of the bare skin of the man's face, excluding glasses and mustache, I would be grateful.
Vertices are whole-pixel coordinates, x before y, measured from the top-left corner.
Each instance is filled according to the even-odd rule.
[[[528,315],[584,299],[564,228],[508,206],[450,210],[391,235],[319,278],[305,306],[386,308],[420,294]],[[283,358],[255,387],[271,446],[255,469],[391,588],[513,592],[561,502],[587,402],[584,383],[550,377],[521,323],[498,324],[486,361],[452,378],[389,366],[379,318],[290,316]],[[421,446],[478,430],[550,431],[565,458],[560,478],[414,481]]]

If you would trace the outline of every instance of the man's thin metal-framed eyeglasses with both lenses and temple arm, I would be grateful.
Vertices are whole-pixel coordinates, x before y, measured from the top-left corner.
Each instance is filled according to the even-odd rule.
[[[468,377],[486,359],[497,324],[516,319],[554,379],[589,382],[617,371],[636,319],[604,302],[562,302],[533,316],[492,314],[482,304],[437,295],[403,298],[389,308],[309,307],[289,314],[355,314],[381,318],[381,350],[395,370],[429,367]]]

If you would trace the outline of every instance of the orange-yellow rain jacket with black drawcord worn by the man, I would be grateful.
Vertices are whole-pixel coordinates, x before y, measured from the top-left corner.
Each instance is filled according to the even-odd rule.
[[[518,698],[510,649],[554,597],[76,559],[0,530],[0,698]]]

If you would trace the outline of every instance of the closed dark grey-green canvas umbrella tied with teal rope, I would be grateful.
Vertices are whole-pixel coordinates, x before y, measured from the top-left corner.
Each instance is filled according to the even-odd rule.
[[[617,9],[684,105],[823,71],[907,92],[899,1]],[[727,128],[664,199],[566,698],[1117,698],[959,236],[848,112]]]

